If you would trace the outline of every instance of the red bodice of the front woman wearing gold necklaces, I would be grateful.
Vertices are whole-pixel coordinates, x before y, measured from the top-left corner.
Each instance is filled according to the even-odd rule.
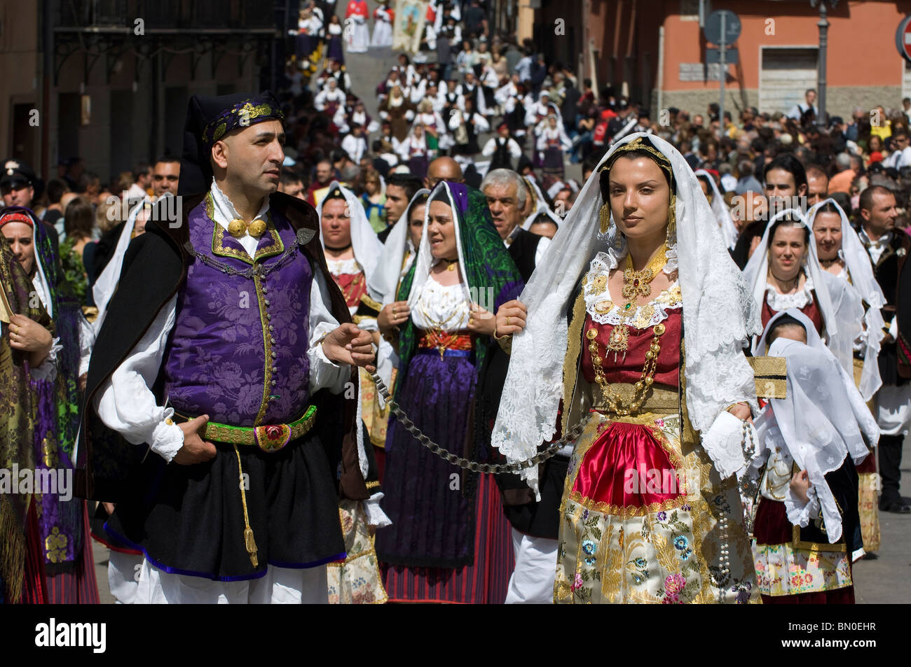
[[[658,368],[655,370],[655,384],[666,387],[677,388],[680,386],[680,367],[681,367],[681,309],[669,310],[668,318],[663,320],[664,335],[660,338],[661,351],[658,353]],[[614,359],[614,353],[608,351],[605,354],[605,344],[610,338],[610,332],[613,325],[599,324],[592,320],[591,316],[586,313],[585,325],[582,328],[582,373],[589,382],[595,382],[595,370],[591,365],[591,352],[589,352],[589,339],[586,338],[586,332],[590,328],[598,329],[598,352],[601,357],[601,368],[604,376],[609,382],[638,382],[642,377],[642,367],[645,365],[645,353],[649,351],[653,327],[643,329],[630,329],[630,348],[626,352],[626,357],[620,352],[617,359]]]

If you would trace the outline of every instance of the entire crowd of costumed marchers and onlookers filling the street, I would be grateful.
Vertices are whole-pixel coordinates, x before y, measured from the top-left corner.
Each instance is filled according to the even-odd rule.
[[[311,1],[182,158],[5,162],[0,454],[88,501],[0,493],[0,599],[97,601],[95,540],[124,603],[854,601],[911,511],[911,100],[656,123],[481,5],[376,117],[393,10]]]

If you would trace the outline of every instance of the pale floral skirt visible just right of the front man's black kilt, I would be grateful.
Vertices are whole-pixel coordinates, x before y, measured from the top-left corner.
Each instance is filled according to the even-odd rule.
[[[328,564],[330,604],[383,604],[387,600],[376,561],[374,539],[367,515],[358,500],[339,501],[345,551],[344,561]]]

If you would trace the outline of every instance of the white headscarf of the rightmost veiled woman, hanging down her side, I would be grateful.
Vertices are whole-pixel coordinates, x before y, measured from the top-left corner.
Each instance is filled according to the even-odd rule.
[[[844,268],[847,269],[848,277],[855,290],[863,298],[868,308],[864,316],[866,330],[861,336],[861,343],[864,349],[864,370],[860,376],[860,393],[865,400],[873,398],[876,391],[882,386],[883,380],[879,377],[879,357],[880,343],[885,336],[883,328],[885,321],[880,308],[885,306],[885,296],[883,289],[879,287],[876,278],[873,275],[873,267],[870,265],[870,256],[864,248],[860,237],[857,236],[854,227],[848,222],[848,217],[844,214],[844,209],[838,206],[833,198],[829,197],[819,204],[816,204],[807,212],[807,220],[810,229],[813,229],[816,213],[819,209],[828,203],[834,204],[838,210],[838,215],[842,218],[842,248],[838,251],[838,257],[844,261]]]

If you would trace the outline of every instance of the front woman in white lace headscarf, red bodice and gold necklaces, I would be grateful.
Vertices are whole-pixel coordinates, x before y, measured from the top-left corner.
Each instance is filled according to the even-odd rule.
[[[734,473],[758,409],[742,348],[760,328],[699,182],[666,141],[626,136],[552,243],[497,312],[498,336],[521,333],[492,442],[527,460],[585,416],[555,601],[758,600]],[[537,491],[537,467],[522,477]]]

